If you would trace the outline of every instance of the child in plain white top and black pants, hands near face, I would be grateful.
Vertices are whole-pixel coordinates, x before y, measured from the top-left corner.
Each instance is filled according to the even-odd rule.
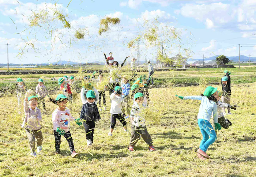
[[[119,86],[116,86],[114,88],[114,93],[110,95],[111,102],[111,124],[110,124],[110,130],[108,135],[112,136],[112,132],[114,130],[114,127],[116,126],[116,119],[120,120],[120,122],[123,124],[124,131],[128,132],[126,121],[124,119],[124,116],[122,114],[122,106],[125,106],[124,98],[121,96],[122,94],[122,88]]]

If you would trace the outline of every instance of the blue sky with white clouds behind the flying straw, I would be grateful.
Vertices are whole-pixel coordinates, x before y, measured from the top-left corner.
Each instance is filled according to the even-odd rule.
[[[193,59],[215,54],[237,56],[238,44],[244,46],[241,55],[256,57],[255,0],[72,0],[69,6],[69,0],[59,0],[57,9],[68,14],[72,29],[64,29],[60,21],[54,20],[49,25],[54,28],[51,37],[45,33],[46,26],[30,27],[28,19],[32,12],[56,8],[55,2],[17,1],[0,0],[0,63],[7,63],[7,43],[10,44],[10,63],[103,61],[103,52],[113,52],[117,61],[126,56],[136,58],[136,50],[128,49],[127,42],[136,38],[139,30],[146,29],[142,27],[145,19],[152,22],[156,17],[159,26],[172,26],[182,31],[181,43],[184,43],[183,48],[192,51]],[[121,23],[99,36],[99,21],[106,16],[118,17]],[[84,39],[74,38],[79,28],[86,32]],[[26,46],[26,42],[34,44],[35,49]],[[164,47],[169,57],[177,54],[169,44]],[[140,44],[141,60],[145,56],[152,59],[156,52],[156,48]]]

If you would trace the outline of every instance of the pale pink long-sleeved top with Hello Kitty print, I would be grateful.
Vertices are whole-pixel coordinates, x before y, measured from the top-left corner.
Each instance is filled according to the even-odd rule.
[[[61,129],[64,129],[65,132],[68,132],[71,122],[74,120],[75,118],[71,116],[68,108],[64,111],[57,108],[52,113],[53,130],[57,130],[57,128],[60,127]]]

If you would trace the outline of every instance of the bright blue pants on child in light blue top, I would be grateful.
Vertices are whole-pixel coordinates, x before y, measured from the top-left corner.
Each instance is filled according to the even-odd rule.
[[[200,131],[203,135],[203,139],[200,143],[200,149],[204,152],[207,151],[208,147],[215,142],[217,139],[216,133],[214,128],[212,127],[211,123],[208,120],[204,120],[202,118],[199,118],[197,120],[198,126],[200,128]],[[209,138],[210,136],[210,138]]]

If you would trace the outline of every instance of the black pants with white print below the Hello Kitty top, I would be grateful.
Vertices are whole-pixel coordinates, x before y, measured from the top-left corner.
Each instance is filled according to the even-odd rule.
[[[53,133],[54,133],[54,138],[55,138],[55,150],[58,154],[60,154],[61,135],[56,130],[54,130]],[[73,143],[73,139],[72,139],[70,131],[65,132],[65,134],[63,136],[66,138],[66,140],[68,142],[68,146],[70,148],[70,152],[72,154],[72,152],[75,151],[75,148],[74,148],[74,143]]]

